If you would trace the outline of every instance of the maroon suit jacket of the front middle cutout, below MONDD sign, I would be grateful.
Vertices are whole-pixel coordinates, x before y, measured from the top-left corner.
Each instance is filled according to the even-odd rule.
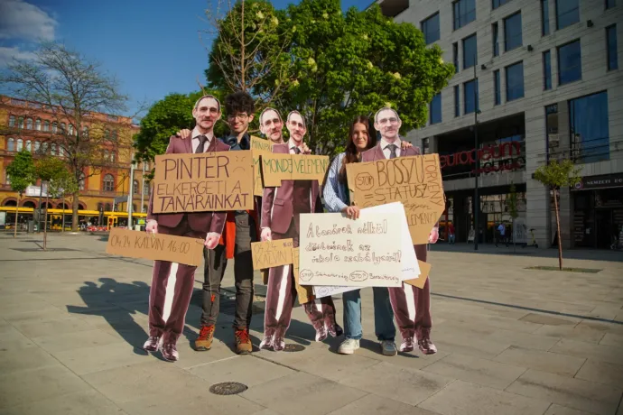
[[[287,143],[273,146],[273,152],[287,154]],[[262,227],[269,227],[271,232],[285,234],[293,218],[294,180],[283,180],[278,188],[265,188],[262,197]],[[310,212],[322,212],[321,191],[318,180],[312,180]]]

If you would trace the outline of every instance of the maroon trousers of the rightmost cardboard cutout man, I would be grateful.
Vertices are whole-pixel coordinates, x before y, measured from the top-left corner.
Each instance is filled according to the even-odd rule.
[[[417,259],[426,262],[426,245],[414,245],[414,248]],[[429,279],[426,280],[423,289],[404,282],[402,287],[390,287],[389,300],[403,338],[428,336],[432,327]]]

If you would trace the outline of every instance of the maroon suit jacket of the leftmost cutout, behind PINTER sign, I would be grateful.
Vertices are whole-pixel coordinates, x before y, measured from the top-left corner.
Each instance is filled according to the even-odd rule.
[[[208,152],[228,152],[228,144],[222,143],[216,136],[212,137],[209,143]],[[167,154],[183,154],[192,153],[192,140],[182,140],[175,135],[169,139],[169,146],[166,148]],[[147,209],[147,220],[155,220],[158,226],[175,227],[181,222],[184,213],[153,213],[153,191],[149,197],[149,208]],[[225,218],[227,212],[189,212],[188,224],[191,229],[196,232],[206,233],[216,232],[223,234],[225,226]]]

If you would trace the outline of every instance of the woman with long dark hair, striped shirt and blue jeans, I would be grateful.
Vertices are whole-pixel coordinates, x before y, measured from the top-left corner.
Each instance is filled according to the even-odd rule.
[[[350,124],[346,152],[338,154],[330,164],[327,181],[323,189],[324,203],[330,212],[342,212],[349,218],[359,217],[359,208],[350,203],[346,166],[351,162],[361,161],[361,154],[373,148],[376,136],[368,134],[369,120],[360,115]],[[402,142],[403,149],[412,147],[411,143]],[[396,355],[394,313],[386,287],[373,287],[375,332],[383,355]],[[342,294],[344,302],[344,336],[338,352],[352,355],[359,348],[363,336],[361,328],[361,296],[359,290],[346,291]]]

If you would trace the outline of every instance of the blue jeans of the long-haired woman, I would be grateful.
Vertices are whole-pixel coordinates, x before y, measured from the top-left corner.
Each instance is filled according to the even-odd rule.
[[[373,287],[374,326],[379,341],[394,341],[394,311],[389,302],[389,291],[386,287]],[[344,301],[344,335],[346,338],[359,340],[361,330],[361,295],[359,290],[347,291],[342,294]]]

